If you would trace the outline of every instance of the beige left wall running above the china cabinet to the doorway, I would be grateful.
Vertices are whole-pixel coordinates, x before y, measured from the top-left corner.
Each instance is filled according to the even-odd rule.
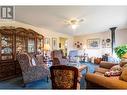
[[[15,27],[23,27],[26,29],[33,29],[34,31],[44,35],[44,37],[50,38],[50,43],[51,43],[51,49],[52,49],[52,38],[57,38],[57,49],[59,49],[59,37],[64,37],[67,38],[68,44],[68,51],[73,48],[73,37],[70,35],[58,33],[49,29],[45,28],[40,28],[40,27],[35,27],[29,24],[17,22],[17,21],[12,21],[12,20],[0,20],[0,26],[15,26]]]

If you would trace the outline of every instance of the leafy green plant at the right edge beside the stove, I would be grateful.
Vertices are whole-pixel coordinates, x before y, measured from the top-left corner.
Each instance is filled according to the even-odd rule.
[[[127,59],[127,44],[116,47],[115,53],[120,59]]]

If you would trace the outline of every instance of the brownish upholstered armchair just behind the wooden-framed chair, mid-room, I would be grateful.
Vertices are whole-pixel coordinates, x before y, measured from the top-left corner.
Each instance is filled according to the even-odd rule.
[[[53,59],[53,65],[66,65],[69,60],[63,56],[62,50],[54,50],[51,52],[51,57]]]

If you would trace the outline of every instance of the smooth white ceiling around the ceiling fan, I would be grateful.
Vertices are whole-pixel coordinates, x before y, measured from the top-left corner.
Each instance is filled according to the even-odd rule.
[[[127,27],[127,6],[16,6],[15,19],[34,26],[70,35],[108,31]],[[84,18],[74,31],[64,20]]]

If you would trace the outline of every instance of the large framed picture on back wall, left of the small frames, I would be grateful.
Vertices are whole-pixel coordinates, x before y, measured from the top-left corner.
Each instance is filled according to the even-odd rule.
[[[98,49],[100,48],[100,39],[88,39],[87,40],[87,48],[89,49]]]

